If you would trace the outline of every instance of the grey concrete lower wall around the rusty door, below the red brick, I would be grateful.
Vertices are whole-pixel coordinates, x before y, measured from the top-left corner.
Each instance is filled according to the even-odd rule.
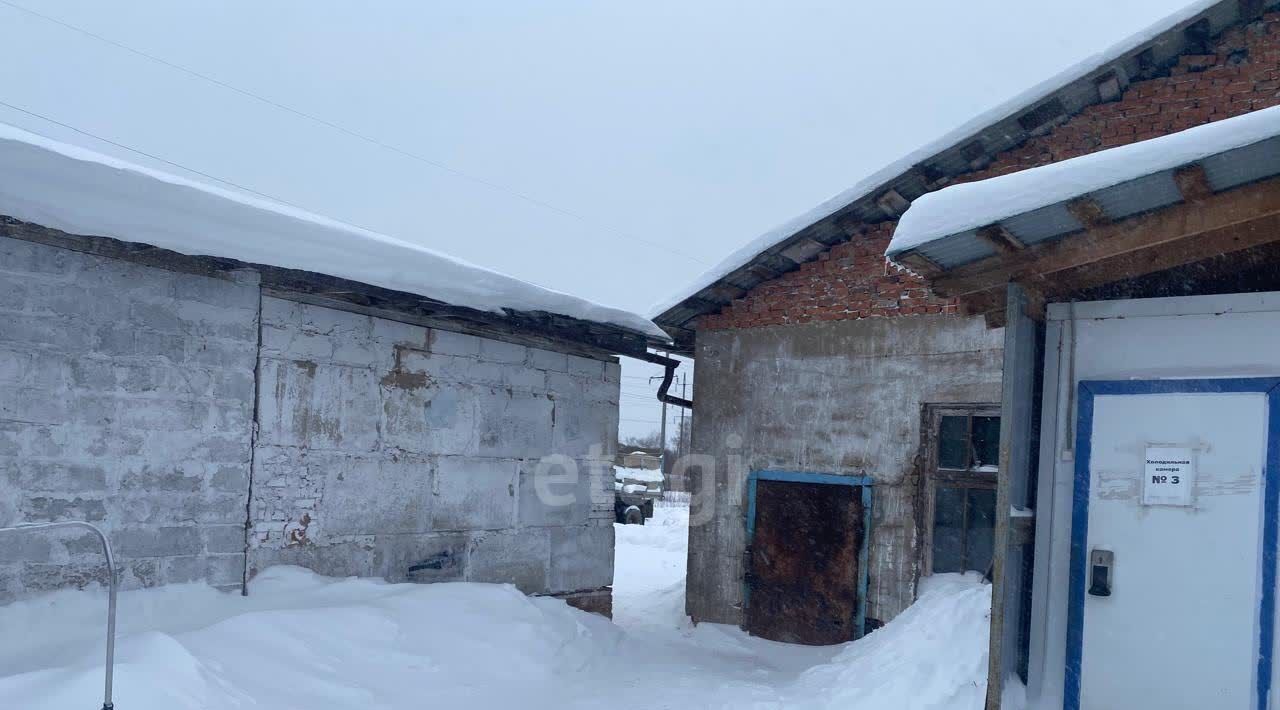
[[[687,610],[742,622],[751,471],[868,476],[868,617],[914,601],[922,406],[998,402],[1002,331],[980,317],[868,319],[698,333]],[[714,393],[714,394],[708,394]]]

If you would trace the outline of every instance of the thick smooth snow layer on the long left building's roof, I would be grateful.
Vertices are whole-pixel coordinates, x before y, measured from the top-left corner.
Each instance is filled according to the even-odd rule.
[[[667,338],[652,321],[627,311],[3,124],[0,215],[191,256],[312,271],[480,311],[558,313]]]

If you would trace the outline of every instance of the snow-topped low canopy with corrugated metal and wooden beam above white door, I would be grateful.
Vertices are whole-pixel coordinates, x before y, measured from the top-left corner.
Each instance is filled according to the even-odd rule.
[[[1280,106],[928,194],[887,256],[998,325],[1041,301],[1280,242]]]

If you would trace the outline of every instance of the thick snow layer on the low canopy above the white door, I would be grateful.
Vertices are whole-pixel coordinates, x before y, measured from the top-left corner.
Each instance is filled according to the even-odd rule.
[[[893,258],[904,252],[920,249],[952,235],[973,233],[975,229],[1009,217],[1056,206],[1105,188],[1171,171],[1210,156],[1257,143],[1267,142],[1266,146],[1260,146],[1265,155],[1260,154],[1261,159],[1226,161],[1222,168],[1230,173],[1216,170],[1213,165],[1206,166],[1210,187],[1219,191],[1234,187],[1234,184],[1228,184],[1231,182],[1270,177],[1280,173],[1280,138],[1277,137],[1280,137],[1280,106],[1061,162],[946,187],[919,197],[902,215],[893,232],[887,256]],[[1252,164],[1256,164],[1256,169]],[[1179,196],[1172,189],[1175,187],[1172,175],[1167,175],[1165,182],[1167,184],[1164,200],[1178,201]],[[1142,189],[1143,200],[1158,200],[1156,192],[1160,188],[1157,185],[1142,185],[1138,189]],[[1107,206],[1112,201],[1101,198],[1098,202]],[[1164,205],[1144,203],[1143,206],[1155,209]],[[1132,207],[1125,206],[1124,209]],[[1066,212],[1066,209],[1064,207],[1061,211]],[[1107,216],[1128,215],[1110,214],[1108,211]],[[1084,226],[1078,221],[1073,224],[1069,221],[1070,219],[1074,217],[1057,215],[1056,221],[1061,225],[1059,229],[1075,232]],[[1053,230],[1057,234],[1050,234],[1041,229],[1019,234],[1016,225],[1010,230],[1019,241],[1030,243],[1044,241],[1037,237],[1048,238],[1064,233]],[[952,262],[954,255],[951,252],[938,252],[932,256],[925,252],[924,256],[945,267],[957,265]]]

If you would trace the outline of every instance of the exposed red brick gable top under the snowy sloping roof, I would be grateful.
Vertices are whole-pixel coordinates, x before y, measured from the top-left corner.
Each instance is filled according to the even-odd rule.
[[[1146,141],[1193,125],[1280,105],[1280,13],[1224,32],[1215,52],[1187,55],[1169,75],[1129,84],[1117,101],[1087,107],[1051,132],[957,178],[972,182]],[[832,247],[818,261],[760,284],[698,327],[765,325],[955,312],[920,279],[884,264],[896,223]]]

